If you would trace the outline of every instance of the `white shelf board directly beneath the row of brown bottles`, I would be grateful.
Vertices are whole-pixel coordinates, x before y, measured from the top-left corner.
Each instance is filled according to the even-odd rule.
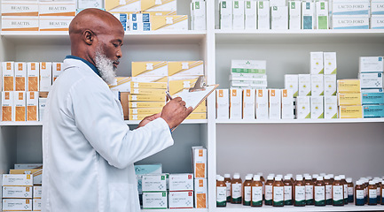
[[[315,212],[315,211],[382,211],[384,206],[355,206],[349,203],[345,206],[305,206],[305,207],[294,207],[294,206],[284,206],[284,207],[272,207],[272,206],[263,206],[263,207],[250,207],[243,205],[227,204],[226,208],[216,208],[217,211],[223,212],[251,212],[251,211],[283,211],[283,212]]]

